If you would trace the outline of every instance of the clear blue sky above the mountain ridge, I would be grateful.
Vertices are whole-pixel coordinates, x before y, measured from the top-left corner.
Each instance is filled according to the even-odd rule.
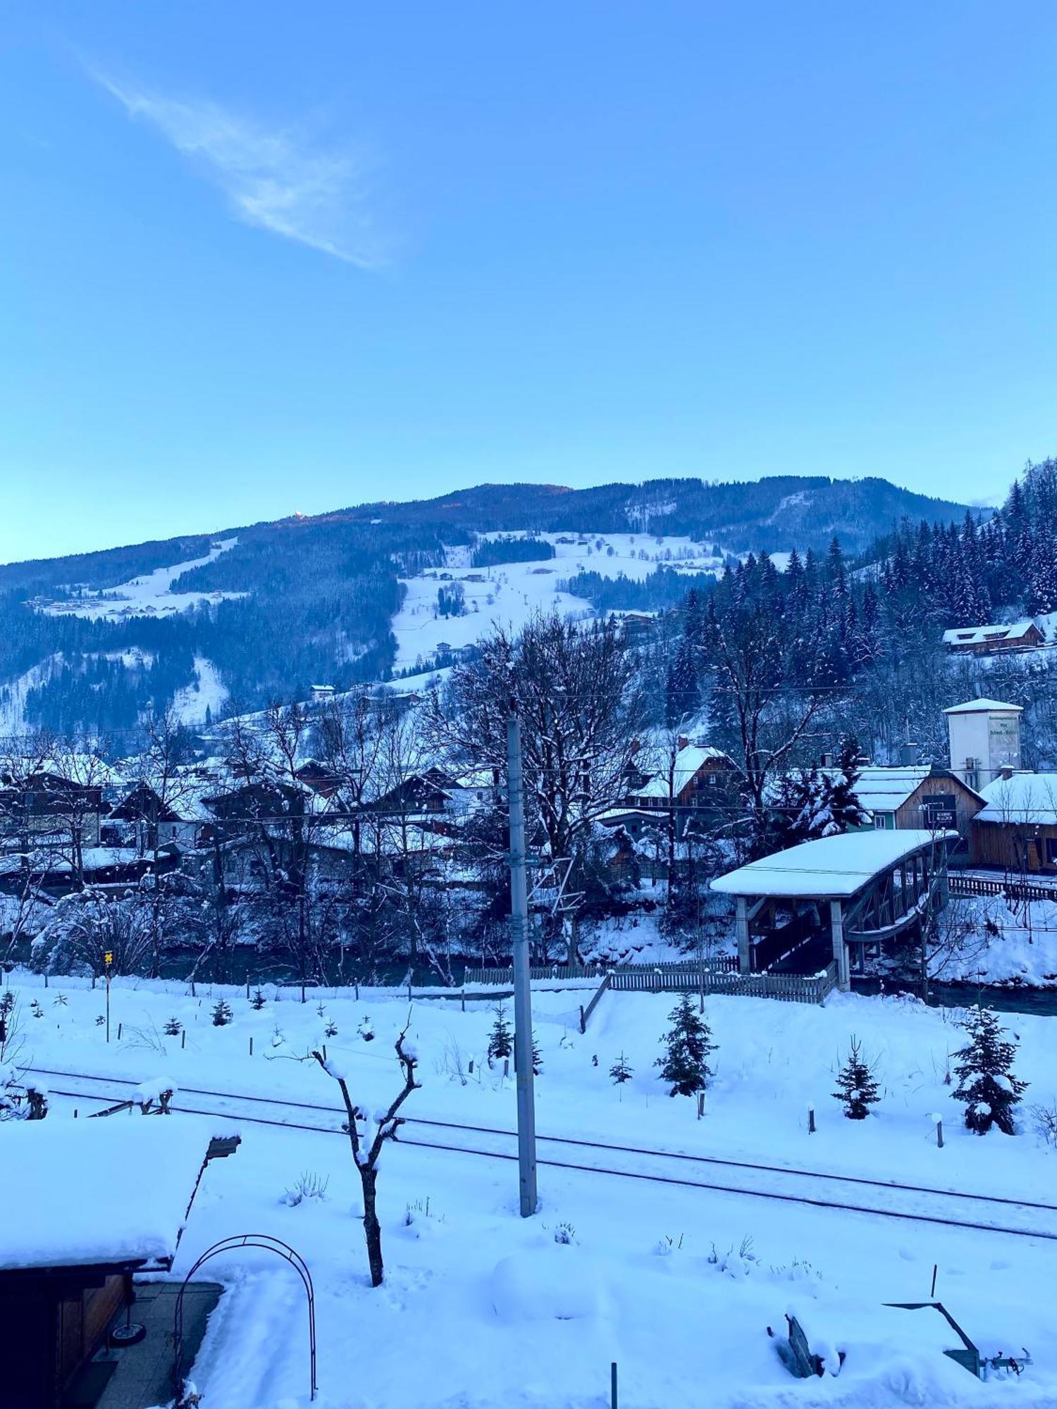
[[[1057,449],[1057,7],[0,13],[0,559]]]

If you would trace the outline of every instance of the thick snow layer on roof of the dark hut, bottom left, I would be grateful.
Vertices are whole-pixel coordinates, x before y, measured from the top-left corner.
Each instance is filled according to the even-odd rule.
[[[186,1116],[113,1116],[4,1126],[18,1216],[0,1224],[0,1270],[147,1262],[168,1267],[216,1126]]]

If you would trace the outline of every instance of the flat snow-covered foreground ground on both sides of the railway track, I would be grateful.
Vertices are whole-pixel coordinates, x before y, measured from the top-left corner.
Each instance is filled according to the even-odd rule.
[[[392,1043],[409,1022],[409,1005],[393,991],[365,992],[361,1002],[324,992],[302,1005],[296,991],[276,1002],[268,989],[261,1012],[244,991],[228,991],[234,1019],[214,1027],[209,991],[192,998],[183,985],[117,981],[111,1023],[114,1034],[121,1023],[123,1037],[107,1045],[96,1026],[101,988],[52,979],[44,991],[39,978],[18,974],[13,982],[34,1067],[166,1076],[185,1088],[189,1106],[196,1098],[187,1088],[203,1088],[333,1107],[334,1084],[297,1060],[326,1041],[368,1109],[397,1088]],[[1032,1084],[1022,1133],[979,1138],[961,1126],[944,1081],[961,1041],[950,1012],[836,995],[823,1009],[712,999],[716,1076],[698,1120],[695,1102],[669,1099],[653,1065],[674,999],[607,995],[581,1036],[585,998],[582,991],[534,995],[541,1134],[1057,1205],[1057,1150],[1036,1136],[1026,1109],[1057,1100],[1053,1020],[1008,1020],[1020,1043],[1016,1071]],[[162,1033],[171,1016],[186,1027],[183,1048],[179,1037]],[[361,1036],[365,1017],[372,1041]],[[465,1013],[458,1002],[412,1005],[423,1089],[412,1095],[409,1116],[513,1129],[513,1085],[482,1067],[490,1023],[486,1005],[468,1003]],[[327,1024],[337,1033],[326,1036]],[[843,1119],[830,1096],[853,1034],[882,1086],[877,1113],[861,1123]],[[617,1088],[607,1072],[622,1053],[634,1076]],[[45,1079],[63,1086],[59,1076]],[[816,1134],[808,1133],[809,1103],[817,1110]],[[83,1099],[56,1096],[49,1119],[68,1119],[73,1105],[82,1116],[90,1109]],[[933,1113],[944,1120],[943,1150]],[[428,1126],[409,1126],[406,1134],[466,1143]],[[541,1158],[603,1162],[596,1151],[565,1146],[555,1155],[554,1148],[541,1146]],[[634,1171],[636,1158],[643,1169],[657,1168],[655,1160],[629,1154],[619,1167]],[[665,1172],[698,1184],[748,1179],[717,1165],[669,1164]],[[326,1198],[292,1203],[286,1191],[304,1174],[326,1181]],[[789,1188],[788,1177],[771,1178],[772,1191]],[[342,1136],[244,1124],[237,1155],[210,1165],[175,1268],[175,1275],[186,1271],[206,1246],[233,1233],[272,1233],[295,1246],[316,1282],[324,1409],[603,1409],[610,1361],[619,1365],[624,1409],[1057,1403],[1050,1292],[1057,1243],[1041,1237],[547,1164],[540,1167],[540,1212],[523,1220],[510,1161],[403,1144],[382,1157],[386,1281],[371,1291],[358,1196]],[[934,1203],[925,1195],[909,1199],[864,1186],[848,1202],[926,1213]],[[951,1216],[999,1222],[994,1205],[981,1208],[977,1215],[971,1203],[954,1200]],[[1005,1206],[1001,1222],[1057,1231],[1057,1212],[1019,1205]],[[571,1241],[557,1241],[555,1233]],[[882,1309],[884,1302],[927,1301],[933,1267],[936,1295],[981,1350],[1019,1355],[1027,1347],[1033,1364],[1019,1379],[999,1375],[981,1385],[941,1355],[929,1313]],[[213,1268],[228,1293],[193,1371],[203,1409],[304,1406],[307,1346],[296,1278],[248,1253]],[[813,1339],[846,1353],[839,1377],[789,1377],[767,1327],[781,1333],[791,1308]]]

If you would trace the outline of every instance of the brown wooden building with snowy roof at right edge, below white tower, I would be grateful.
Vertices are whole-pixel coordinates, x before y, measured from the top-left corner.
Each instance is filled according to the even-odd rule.
[[[972,819],[972,864],[1016,875],[1057,874],[1057,774],[1006,768],[982,796]]]

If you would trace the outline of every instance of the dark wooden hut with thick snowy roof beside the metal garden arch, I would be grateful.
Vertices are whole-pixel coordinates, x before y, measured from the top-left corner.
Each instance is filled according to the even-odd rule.
[[[4,1126],[18,1208],[0,1223],[3,1409],[96,1402],[120,1367],[120,1353],[99,1353],[135,1302],[134,1277],[169,1271],[206,1165],[238,1144],[216,1127],[55,1113]]]

